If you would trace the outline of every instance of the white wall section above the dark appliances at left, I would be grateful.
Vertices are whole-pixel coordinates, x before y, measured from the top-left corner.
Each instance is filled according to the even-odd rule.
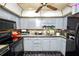
[[[17,28],[20,28],[20,24],[19,24],[20,18],[1,7],[0,7],[0,18],[15,21]]]

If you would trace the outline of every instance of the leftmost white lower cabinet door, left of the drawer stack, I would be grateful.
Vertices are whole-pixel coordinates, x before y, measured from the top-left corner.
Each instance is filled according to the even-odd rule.
[[[33,43],[33,40],[24,38],[24,51],[32,51],[32,47],[33,47],[32,43]]]

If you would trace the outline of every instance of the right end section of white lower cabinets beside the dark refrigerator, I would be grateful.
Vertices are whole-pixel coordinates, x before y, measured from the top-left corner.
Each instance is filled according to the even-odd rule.
[[[66,39],[62,37],[50,39],[50,51],[61,51],[61,53],[65,55]]]

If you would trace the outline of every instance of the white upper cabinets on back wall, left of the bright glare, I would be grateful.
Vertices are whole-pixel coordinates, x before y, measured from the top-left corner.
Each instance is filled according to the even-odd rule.
[[[37,27],[36,19],[38,20],[38,18],[23,18],[20,20],[21,22],[21,29],[29,29],[29,28],[35,28]]]

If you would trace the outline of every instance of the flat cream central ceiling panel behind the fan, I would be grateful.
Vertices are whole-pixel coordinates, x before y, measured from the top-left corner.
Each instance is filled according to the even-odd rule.
[[[58,10],[62,10],[69,5],[68,3],[47,3],[47,4],[56,7]],[[41,3],[18,3],[18,5],[24,10],[36,10],[39,6],[41,6]],[[42,10],[52,11],[46,6],[44,6]]]

